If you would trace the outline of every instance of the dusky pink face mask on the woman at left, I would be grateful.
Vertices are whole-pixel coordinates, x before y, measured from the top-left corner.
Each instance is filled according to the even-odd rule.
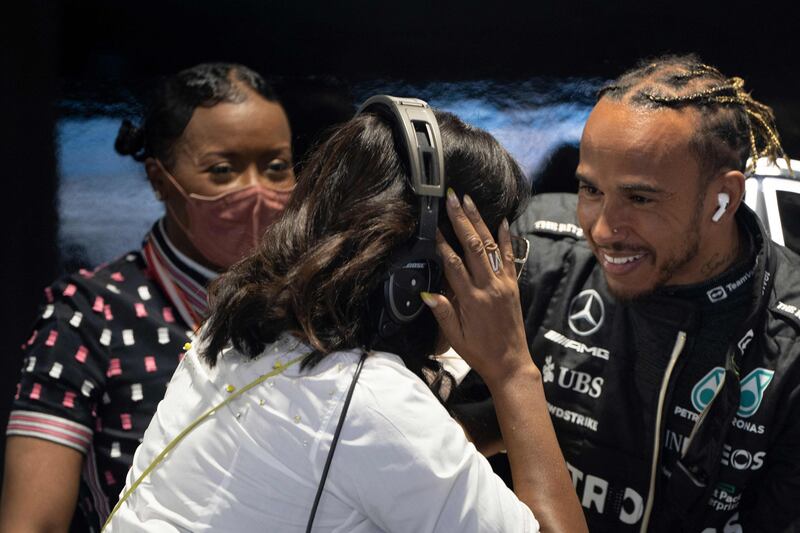
[[[218,196],[187,194],[169,172],[164,173],[186,200],[189,227],[185,227],[173,212],[175,222],[203,257],[223,269],[255,249],[264,231],[286,208],[292,194],[291,189],[276,191],[259,185]],[[166,205],[169,209],[169,204]]]

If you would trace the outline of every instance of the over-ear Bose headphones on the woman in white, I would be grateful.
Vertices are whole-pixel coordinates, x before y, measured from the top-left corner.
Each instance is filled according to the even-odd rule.
[[[422,312],[422,291],[436,292],[442,262],[436,253],[439,201],[445,194],[444,154],[439,124],[430,106],[417,98],[377,95],[367,99],[356,114],[377,112],[392,121],[411,173],[411,190],[419,197],[417,233],[391,257],[383,284],[383,305],[378,333],[391,337]]]

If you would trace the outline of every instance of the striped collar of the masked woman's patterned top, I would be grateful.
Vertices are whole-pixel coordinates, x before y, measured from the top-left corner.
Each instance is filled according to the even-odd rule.
[[[142,248],[153,277],[184,321],[196,329],[208,314],[206,287],[218,274],[189,259],[172,244],[163,218],[153,225]]]

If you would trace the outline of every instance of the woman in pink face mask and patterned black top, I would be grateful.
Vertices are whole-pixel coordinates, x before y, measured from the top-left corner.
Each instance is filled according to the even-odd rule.
[[[46,289],[7,430],[2,531],[65,531],[76,504],[99,529],[207,312],[206,285],[253,249],[295,183],[286,114],[240,65],[166,79],[115,147],[144,163],[166,214],[141,250]]]

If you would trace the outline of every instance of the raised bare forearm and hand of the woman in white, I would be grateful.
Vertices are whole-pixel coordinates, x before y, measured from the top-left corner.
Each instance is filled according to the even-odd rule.
[[[501,225],[495,243],[472,200],[465,196],[462,207],[452,190],[447,191],[447,214],[465,250],[462,260],[439,236],[454,298],[423,293],[423,300],[453,348],[489,387],[514,492],[531,508],[541,531],[587,531],[541,374],[528,351],[508,223]]]

